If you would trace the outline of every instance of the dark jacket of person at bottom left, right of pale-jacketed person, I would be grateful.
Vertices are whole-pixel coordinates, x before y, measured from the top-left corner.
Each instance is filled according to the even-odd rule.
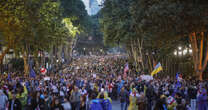
[[[19,99],[9,100],[9,110],[22,110],[22,104]]]

